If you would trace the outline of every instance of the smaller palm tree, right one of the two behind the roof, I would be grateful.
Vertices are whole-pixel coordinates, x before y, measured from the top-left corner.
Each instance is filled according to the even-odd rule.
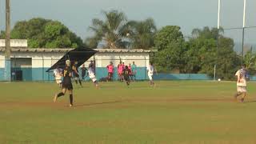
[[[122,31],[128,36],[134,49],[148,49],[154,46],[154,34],[157,28],[152,18],[144,21],[130,21],[125,27]]]

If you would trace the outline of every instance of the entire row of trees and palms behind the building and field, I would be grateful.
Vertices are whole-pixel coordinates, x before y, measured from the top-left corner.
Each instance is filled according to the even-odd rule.
[[[234,51],[232,38],[224,36],[221,28],[194,29],[190,37],[182,34],[179,26],[163,26],[157,29],[153,18],[141,21],[129,20],[121,11],[102,11],[103,18],[94,18],[89,30],[91,37],[82,42],[61,22],[44,18],[32,18],[17,22],[11,38],[28,39],[30,48],[102,48],[158,50],[152,62],[158,72],[208,74],[234,78],[234,73],[245,63],[250,74],[255,74],[256,54],[249,50],[244,58]],[[5,38],[2,31],[0,38]],[[218,47],[218,48],[217,48]]]

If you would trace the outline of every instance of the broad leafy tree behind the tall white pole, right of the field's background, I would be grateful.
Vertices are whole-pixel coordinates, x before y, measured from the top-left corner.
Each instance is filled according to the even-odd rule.
[[[222,29],[195,29],[186,51],[186,71],[214,76],[214,65],[217,64],[218,78],[232,79],[234,72],[241,65],[241,59],[234,52],[234,41],[222,34]],[[217,41],[218,39],[218,41]],[[218,42],[218,56],[217,56]],[[217,59],[218,58],[218,59]],[[192,60],[191,60],[192,59]]]

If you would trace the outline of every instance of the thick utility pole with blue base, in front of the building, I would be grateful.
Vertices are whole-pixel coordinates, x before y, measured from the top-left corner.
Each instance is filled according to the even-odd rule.
[[[6,0],[6,50],[5,50],[5,78],[11,81],[10,70],[10,0]]]

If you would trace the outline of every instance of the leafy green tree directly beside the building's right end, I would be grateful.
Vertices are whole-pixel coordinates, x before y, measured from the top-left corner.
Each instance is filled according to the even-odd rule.
[[[179,26],[165,26],[155,36],[154,45],[158,54],[154,62],[160,71],[184,70],[184,38]]]

